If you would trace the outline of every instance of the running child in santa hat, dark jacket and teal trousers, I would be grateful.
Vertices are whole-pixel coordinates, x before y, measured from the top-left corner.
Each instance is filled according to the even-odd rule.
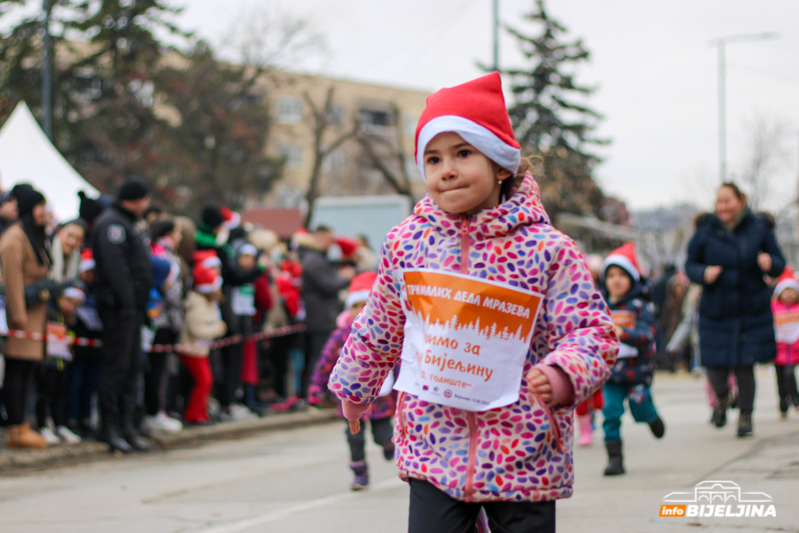
[[[608,450],[606,476],[624,473],[621,444],[621,417],[624,402],[636,422],[649,424],[652,434],[660,439],[666,426],[652,401],[652,376],[655,370],[655,331],[657,322],[652,304],[644,295],[644,284],[638,256],[633,243],[627,243],[612,252],[603,264],[603,281],[616,325],[616,335],[621,340],[619,355],[605,384],[605,446]]]

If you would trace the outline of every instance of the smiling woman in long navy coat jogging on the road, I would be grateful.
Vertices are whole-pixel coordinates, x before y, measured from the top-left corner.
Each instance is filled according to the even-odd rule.
[[[730,372],[738,381],[738,436],[752,435],[755,403],[754,364],[777,354],[771,291],[764,275],[776,278],[785,268],[773,224],[753,213],[734,183],[716,195],[715,213],[697,219],[688,245],[685,271],[703,287],[699,302],[699,352],[718,399],[716,427],[727,421],[733,401]]]

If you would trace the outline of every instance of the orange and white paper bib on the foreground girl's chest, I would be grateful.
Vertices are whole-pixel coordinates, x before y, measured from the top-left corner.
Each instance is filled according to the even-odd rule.
[[[440,270],[402,276],[405,339],[394,388],[469,411],[515,403],[544,297]]]

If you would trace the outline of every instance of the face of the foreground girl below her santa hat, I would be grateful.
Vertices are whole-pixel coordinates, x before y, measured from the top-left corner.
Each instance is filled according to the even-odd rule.
[[[478,152],[457,133],[436,135],[424,153],[427,190],[433,201],[452,214],[472,215],[499,204],[508,170]]]

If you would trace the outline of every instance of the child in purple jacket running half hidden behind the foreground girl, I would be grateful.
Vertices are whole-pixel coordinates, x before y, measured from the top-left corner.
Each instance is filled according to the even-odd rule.
[[[347,341],[347,337],[349,337],[353,320],[366,306],[366,300],[369,297],[369,291],[372,290],[375,279],[377,279],[376,272],[364,272],[363,274],[358,274],[352,280],[349,294],[347,295],[347,309],[339,317],[339,329],[333,332],[327,344],[325,344],[308,387],[308,402],[315,407],[321,407],[327,397],[327,381],[330,379],[330,373],[338,361],[341,348]],[[384,386],[378,398],[371,404],[371,410],[364,414],[364,418],[371,422],[372,437],[378,446],[383,447],[383,456],[390,461],[394,458],[394,444],[391,439],[394,435],[392,417],[396,406],[396,393],[391,390],[391,385],[394,383],[393,379],[388,381],[389,383]],[[344,417],[340,406],[339,414],[342,418]],[[350,431],[349,424],[347,424],[345,433],[347,435],[347,444],[350,446],[350,468],[355,476],[350,488],[352,490],[363,490],[369,485],[369,467],[366,464],[366,438],[363,433]]]

